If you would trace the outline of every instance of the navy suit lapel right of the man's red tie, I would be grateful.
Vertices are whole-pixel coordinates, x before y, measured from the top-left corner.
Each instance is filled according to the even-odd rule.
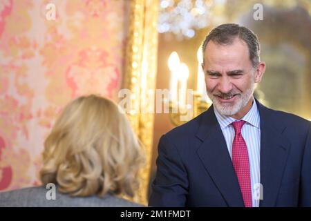
[[[257,101],[256,101],[257,102]],[[273,111],[258,104],[261,116],[261,184],[263,200],[260,206],[275,206],[283,177],[290,142],[282,135],[285,126],[276,122]]]

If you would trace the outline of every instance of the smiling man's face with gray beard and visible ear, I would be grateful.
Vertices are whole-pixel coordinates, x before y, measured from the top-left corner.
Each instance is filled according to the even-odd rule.
[[[202,68],[206,73],[207,95],[219,113],[241,119],[252,106],[254,83],[261,81],[265,63],[258,62],[258,57],[252,62],[254,58],[249,58],[247,44],[239,37],[227,41],[225,45],[205,41]]]

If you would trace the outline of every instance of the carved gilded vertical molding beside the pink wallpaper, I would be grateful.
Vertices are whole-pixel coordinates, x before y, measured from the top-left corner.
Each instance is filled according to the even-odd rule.
[[[153,144],[153,106],[158,52],[158,1],[133,0],[130,6],[123,88],[131,90],[129,119],[144,146],[146,164],[133,201],[147,204]]]

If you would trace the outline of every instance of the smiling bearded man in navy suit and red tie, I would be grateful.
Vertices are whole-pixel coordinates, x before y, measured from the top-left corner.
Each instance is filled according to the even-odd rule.
[[[202,49],[213,105],[161,137],[149,205],[311,206],[311,123],[254,99],[256,35],[223,24]]]

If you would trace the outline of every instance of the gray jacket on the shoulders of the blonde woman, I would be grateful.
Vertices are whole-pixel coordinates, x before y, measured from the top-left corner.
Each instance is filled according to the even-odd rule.
[[[122,200],[111,194],[107,194],[104,198],[97,196],[90,197],[70,197],[56,191],[55,200],[47,200],[46,193],[50,189],[44,186],[30,187],[18,189],[15,191],[7,191],[0,193],[1,207],[137,207],[142,206],[127,200]]]

